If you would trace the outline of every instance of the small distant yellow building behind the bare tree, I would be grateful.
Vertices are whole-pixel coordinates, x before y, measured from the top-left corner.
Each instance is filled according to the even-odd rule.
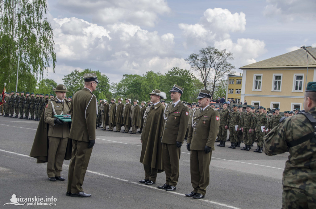
[[[234,98],[235,103],[240,103],[241,83],[242,83],[241,73],[240,75],[231,75],[231,74],[227,75],[226,101],[228,101],[228,99]]]

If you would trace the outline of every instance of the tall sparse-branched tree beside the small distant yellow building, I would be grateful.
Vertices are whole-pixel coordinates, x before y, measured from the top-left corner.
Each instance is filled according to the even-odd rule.
[[[207,81],[209,76],[213,75],[212,95],[216,82],[220,81],[225,75],[233,74],[233,66],[228,61],[234,60],[231,52],[226,49],[219,51],[215,47],[207,47],[199,50],[199,54],[192,53],[189,58],[185,59],[191,65],[191,70],[197,71],[204,83],[204,89],[207,90]]]

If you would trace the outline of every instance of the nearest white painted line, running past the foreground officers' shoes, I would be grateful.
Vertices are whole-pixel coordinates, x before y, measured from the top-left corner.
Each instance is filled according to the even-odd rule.
[[[8,152],[8,153],[15,154],[15,155],[20,155],[20,156],[23,156],[23,157],[32,158],[30,156],[27,156],[27,155],[24,155],[24,154],[20,154],[20,153],[16,153],[16,152],[10,152],[10,151],[6,151],[6,150],[2,150],[2,149],[0,149],[0,151]],[[66,166],[66,167],[69,167],[69,165],[67,165],[67,164],[63,164],[63,165]],[[132,181],[129,181],[129,180],[126,180],[126,179],[121,179],[121,178],[114,177],[114,176],[109,176],[109,175],[106,175],[106,174],[103,174],[103,173],[99,173],[99,172],[95,172],[95,171],[92,171],[92,170],[87,170],[87,172],[88,173],[93,173],[93,174],[99,175],[99,176],[104,176],[104,177],[116,179],[116,180],[123,181],[123,182],[128,182],[128,183],[135,184],[135,185],[138,185],[138,186],[143,186],[143,187],[147,187],[147,188],[151,188],[151,189],[156,189],[157,191],[162,191],[162,189],[158,189],[156,187],[152,187],[152,186],[149,186],[149,185],[146,185],[146,184],[141,184],[141,183],[138,183],[138,182],[132,182]],[[180,196],[185,196],[184,194],[181,194],[181,193],[178,193],[178,192],[173,192],[173,191],[171,191],[171,192],[167,192],[166,191],[166,194],[168,194],[168,193],[172,193],[172,194],[176,194],[176,195],[180,195]],[[212,203],[212,204],[215,204],[215,205],[225,206],[225,207],[228,207],[228,208],[241,209],[239,207],[230,206],[230,205],[226,205],[226,204],[223,204],[223,203],[214,202],[214,201],[210,201],[210,200],[204,200],[204,199],[200,199],[200,200],[204,201],[204,202]]]

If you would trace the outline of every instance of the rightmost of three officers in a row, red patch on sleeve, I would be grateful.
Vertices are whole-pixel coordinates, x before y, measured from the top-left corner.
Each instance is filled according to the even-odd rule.
[[[186,144],[190,152],[190,172],[193,191],[185,194],[194,199],[204,198],[210,183],[210,162],[220,123],[219,112],[210,108],[210,91],[201,90],[199,109],[193,115]]]

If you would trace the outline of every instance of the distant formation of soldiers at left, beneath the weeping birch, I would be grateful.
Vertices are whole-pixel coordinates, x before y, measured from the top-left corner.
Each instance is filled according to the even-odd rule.
[[[41,93],[34,94],[33,92],[30,94],[29,92],[26,92],[24,95],[23,91],[11,91],[11,93],[5,92],[3,116],[13,117],[13,115],[15,115],[14,118],[40,121],[40,116],[43,113],[45,101],[52,98],[54,98],[53,94],[44,95]],[[68,99],[71,101],[71,96],[68,97]],[[18,115],[20,115],[20,117],[18,117]]]

